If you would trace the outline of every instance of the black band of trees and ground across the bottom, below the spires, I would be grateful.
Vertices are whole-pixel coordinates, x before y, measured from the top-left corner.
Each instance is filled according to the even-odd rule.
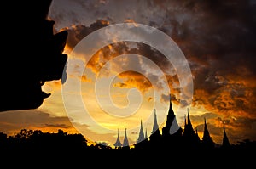
[[[175,147],[176,145],[174,145]],[[171,148],[171,149],[170,149]],[[230,149],[172,149],[173,146],[161,145],[160,148],[114,149],[108,144],[88,144],[82,134],[63,132],[42,132],[22,129],[13,136],[0,132],[0,155],[2,164],[10,161],[9,167],[82,167],[93,164],[95,167],[135,164],[143,166],[183,165],[198,167],[202,163],[219,166],[251,166],[256,152],[256,142],[243,140],[231,144]],[[128,162],[130,161],[130,162]],[[144,165],[145,163],[145,165]],[[147,164],[146,164],[147,163]]]

